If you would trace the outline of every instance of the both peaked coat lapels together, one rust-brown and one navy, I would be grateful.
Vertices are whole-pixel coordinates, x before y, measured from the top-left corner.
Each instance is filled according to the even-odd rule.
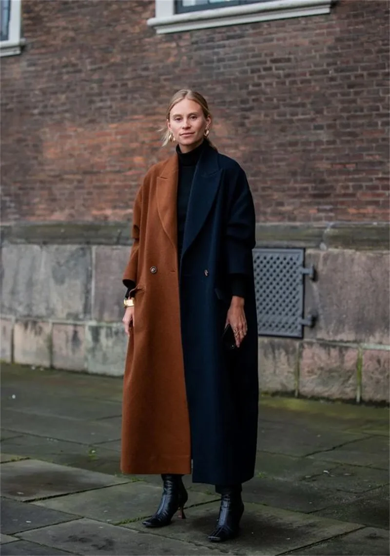
[[[209,145],[202,151],[197,164],[189,196],[182,256],[201,231],[216,197],[221,169],[218,152]],[[168,158],[157,177],[158,214],[172,245],[177,249],[177,184],[178,156]]]

